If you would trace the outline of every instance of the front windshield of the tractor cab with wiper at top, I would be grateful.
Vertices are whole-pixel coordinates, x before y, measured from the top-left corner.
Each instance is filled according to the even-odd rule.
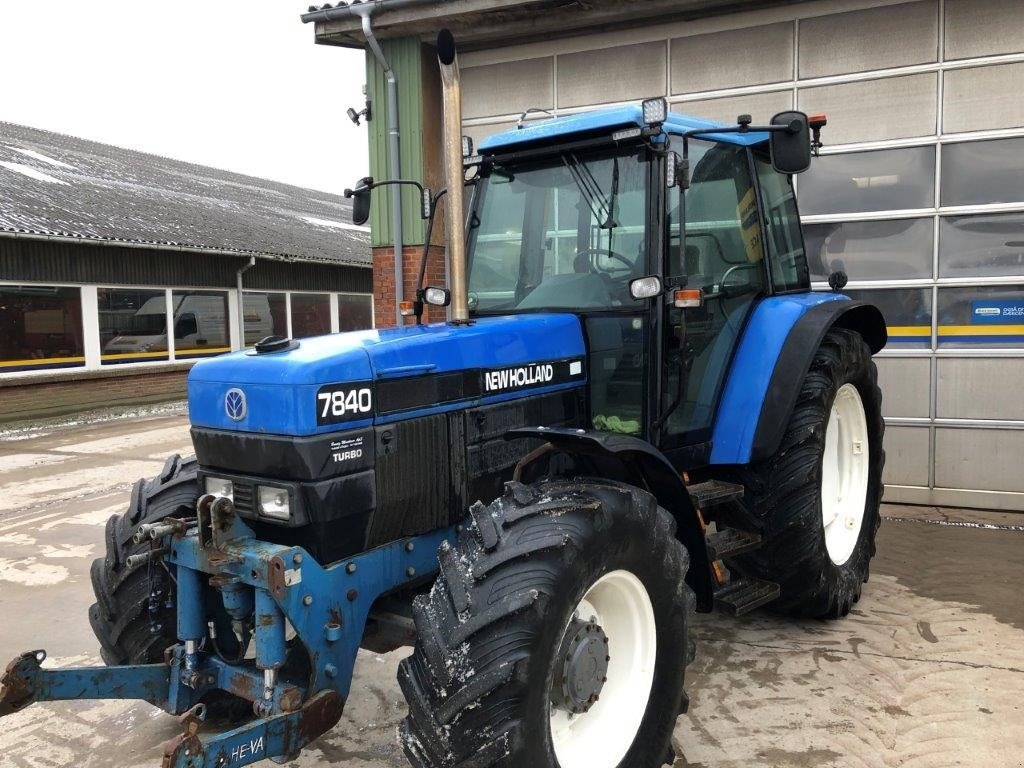
[[[646,273],[647,156],[562,153],[481,180],[469,243],[473,312],[633,305]]]

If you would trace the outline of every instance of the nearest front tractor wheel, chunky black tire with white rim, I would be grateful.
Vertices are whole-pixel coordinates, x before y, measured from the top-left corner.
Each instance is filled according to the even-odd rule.
[[[418,640],[398,669],[409,760],[671,764],[693,655],[673,518],[650,494],[599,479],[510,482],[470,512],[414,603]]]

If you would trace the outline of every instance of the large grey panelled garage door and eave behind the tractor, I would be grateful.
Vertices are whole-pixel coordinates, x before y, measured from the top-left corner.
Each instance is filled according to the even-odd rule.
[[[380,4],[379,37],[456,32],[476,139],[655,95],[726,122],[825,113],[797,179],[806,250],[816,289],[842,269],[886,315],[887,500],[1024,510],[1024,3],[401,5]],[[343,13],[309,20],[360,44]]]

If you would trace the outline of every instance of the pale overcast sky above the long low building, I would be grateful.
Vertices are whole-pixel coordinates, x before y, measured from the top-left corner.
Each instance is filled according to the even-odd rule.
[[[367,173],[361,51],[301,0],[0,0],[0,120],[340,193]]]

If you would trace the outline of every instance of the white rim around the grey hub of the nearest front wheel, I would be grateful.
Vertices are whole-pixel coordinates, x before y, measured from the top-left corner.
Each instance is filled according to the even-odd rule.
[[[586,713],[551,707],[552,745],[560,768],[614,768],[640,730],[654,683],[654,608],[639,579],[613,570],[587,590],[575,613],[608,638],[607,682]]]

